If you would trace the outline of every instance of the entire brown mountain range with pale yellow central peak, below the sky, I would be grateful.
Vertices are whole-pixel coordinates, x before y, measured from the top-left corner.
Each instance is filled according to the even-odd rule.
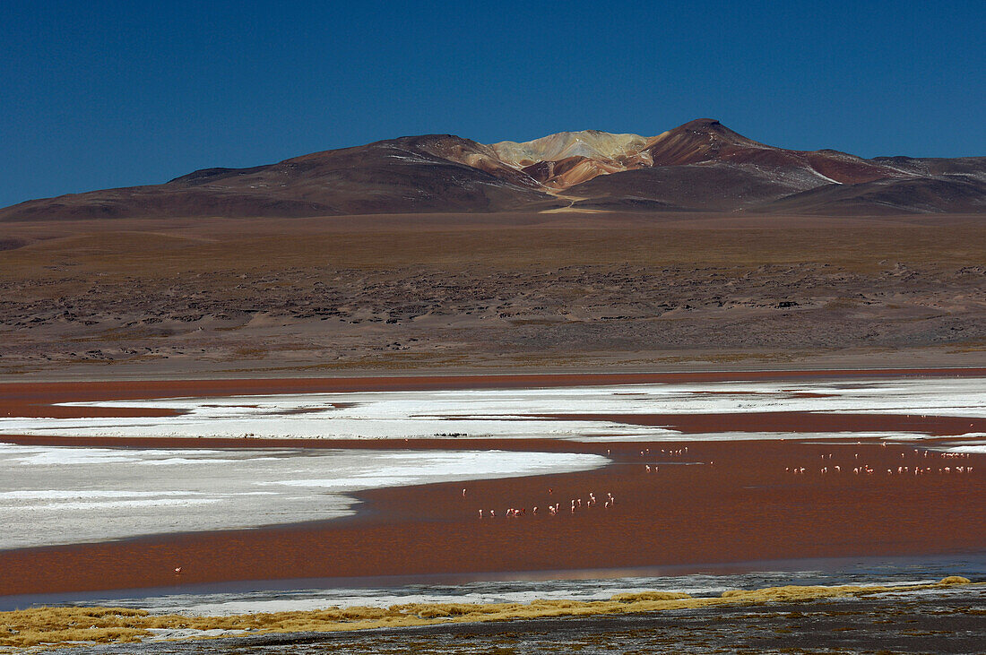
[[[767,146],[717,120],[484,145],[400,137],[164,184],[31,200],[0,221],[473,212],[986,213],[986,157],[864,159]]]

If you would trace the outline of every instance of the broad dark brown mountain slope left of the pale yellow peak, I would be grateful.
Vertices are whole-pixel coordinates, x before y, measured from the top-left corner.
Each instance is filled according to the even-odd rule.
[[[465,164],[469,162],[470,164]],[[403,137],[251,168],[207,168],[166,184],[35,200],[0,220],[124,217],[306,217],[495,212],[561,206],[486,146]]]

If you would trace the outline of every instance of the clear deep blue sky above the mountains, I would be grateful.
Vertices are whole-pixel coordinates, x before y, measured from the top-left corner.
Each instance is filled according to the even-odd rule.
[[[0,206],[408,134],[700,117],[801,150],[981,156],[984,26],[984,0],[10,0]]]

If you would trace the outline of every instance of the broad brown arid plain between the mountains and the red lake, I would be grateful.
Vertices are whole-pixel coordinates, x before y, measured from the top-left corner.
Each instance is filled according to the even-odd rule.
[[[8,381],[986,364],[981,215],[0,223]]]

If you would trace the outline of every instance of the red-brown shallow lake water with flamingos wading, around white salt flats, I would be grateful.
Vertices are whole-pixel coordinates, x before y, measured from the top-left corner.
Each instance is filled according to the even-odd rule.
[[[880,374],[889,375],[887,371]],[[565,384],[578,383],[569,379],[572,376],[563,377]],[[422,384],[439,383],[436,378],[428,378],[427,382],[413,379]],[[446,384],[469,388],[470,380],[454,378]],[[283,393],[302,388],[320,391],[334,384],[321,381],[305,387],[298,383],[297,380],[238,380],[215,382],[211,387],[205,382],[190,383],[191,388],[169,382],[139,389],[107,384],[93,388],[46,386],[21,391],[13,389],[13,385],[3,385],[0,393],[4,394],[7,407],[16,408],[25,403],[43,405],[59,397],[85,396],[87,400],[97,400],[218,395],[221,389],[228,389],[230,394]],[[608,379],[604,383],[617,382]],[[345,380],[339,382],[339,390],[366,389],[373,384],[378,382]],[[379,384],[405,388],[408,381],[401,378]],[[518,385],[538,384],[528,380]],[[743,417],[742,421],[747,422],[744,425],[748,429],[770,431],[787,426],[785,422],[789,419],[792,417],[761,414]],[[850,429],[901,428],[880,424],[881,419],[890,423],[903,420],[867,416],[865,421],[872,425],[854,425]],[[675,420],[681,422],[675,425],[691,425],[696,430],[703,421],[713,421],[708,417],[675,417]],[[968,424],[974,420],[960,421]],[[701,427],[704,431],[706,426]],[[929,429],[924,431],[931,434],[956,433],[948,422],[932,422],[925,427]],[[465,485],[464,496],[461,484],[364,491],[357,494],[364,501],[361,511],[347,519],[0,552],[0,595],[302,577],[939,555],[981,552],[986,548],[986,519],[981,511],[982,498],[986,497],[986,456],[970,455],[955,460],[941,453],[926,453],[921,448],[915,451],[912,446],[881,445],[867,439],[862,444],[854,440],[830,443],[682,440],[674,444],[551,439],[410,442],[306,439],[298,443],[261,439],[59,441],[57,437],[7,437],[5,440],[122,447],[278,445],[564,450],[608,454],[613,463],[586,473],[477,481]],[[934,440],[924,443],[931,444]],[[662,453],[661,449],[666,452]],[[971,466],[972,472],[955,472],[956,462],[963,469]],[[875,473],[852,472],[863,464]],[[650,472],[648,465],[652,466]],[[839,472],[836,466],[841,469]],[[947,466],[950,473],[944,472]],[[805,467],[805,474],[791,473],[801,467]],[[898,474],[898,467],[907,467],[908,473]],[[931,471],[913,475],[914,467]],[[827,472],[822,473],[822,468]],[[599,499],[595,506],[588,506],[591,491]],[[615,498],[614,506],[608,509],[602,506],[607,493]],[[582,507],[574,513],[569,510],[572,499],[582,500]],[[549,516],[546,507],[554,502],[561,504],[561,512]],[[539,508],[536,515],[534,506]],[[510,507],[524,508],[526,514],[507,517],[506,509]],[[496,518],[488,516],[491,508],[496,510]],[[485,510],[486,518],[479,518],[479,509]],[[181,567],[180,575],[174,572],[177,566]]]

